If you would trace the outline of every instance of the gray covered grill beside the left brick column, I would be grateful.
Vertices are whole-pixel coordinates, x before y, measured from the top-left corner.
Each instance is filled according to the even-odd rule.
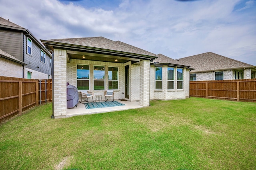
[[[76,86],[68,84],[67,86],[67,109],[75,107],[78,104],[78,90]]]

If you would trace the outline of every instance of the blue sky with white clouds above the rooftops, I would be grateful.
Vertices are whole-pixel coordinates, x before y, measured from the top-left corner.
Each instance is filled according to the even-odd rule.
[[[105,37],[179,59],[213,52],[256,65],[256,0],[0,0],[38,40]]]

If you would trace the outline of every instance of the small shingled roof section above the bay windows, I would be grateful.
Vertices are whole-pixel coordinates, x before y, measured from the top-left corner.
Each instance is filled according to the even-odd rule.
[[[156,55],[158,58],[152,61],[152,64],[157,63],[157,64],[169,64],[173,66],[184,66],[184,67],[190,67],[189,65],[186,65],[180,61],[176,61],[170,57],[167,57],[162,54]]]

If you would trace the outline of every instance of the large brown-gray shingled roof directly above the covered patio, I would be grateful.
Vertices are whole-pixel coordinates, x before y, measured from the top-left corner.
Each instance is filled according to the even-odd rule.
[[[41,40],[41,41],[45,41],[45,40]],[[155,54],[150,53],[148,51],[139,49],[137,47],[128,45],[126,43],[122,43],[120,41],[112,41],[112,40],[104,38],[104,37],[49,39],[46,41],[156,57]]]

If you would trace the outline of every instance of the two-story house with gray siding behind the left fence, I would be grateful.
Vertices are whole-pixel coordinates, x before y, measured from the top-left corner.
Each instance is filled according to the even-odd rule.
[[[22,71],[2,65],[12,77],[46,79],[52,75],[52,56],[28,29],[0,17],[0,49],[25,63]],[[14,71],[15,70],[15,71]],[[0,72],[2,76],[2,72]]]

